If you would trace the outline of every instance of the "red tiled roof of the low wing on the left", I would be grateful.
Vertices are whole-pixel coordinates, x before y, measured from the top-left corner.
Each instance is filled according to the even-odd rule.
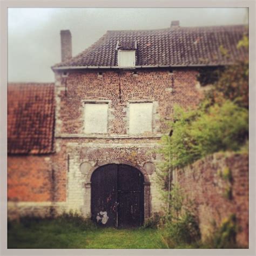
[[[53,83],[8,84],[8,153],[53,152]]]

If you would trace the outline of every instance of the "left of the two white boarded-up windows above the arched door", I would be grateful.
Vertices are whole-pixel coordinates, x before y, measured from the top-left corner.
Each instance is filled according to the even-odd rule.
[[[107,109],[108,104],[85,103],[84,104],[84,132],[106,133],[107,132]]]

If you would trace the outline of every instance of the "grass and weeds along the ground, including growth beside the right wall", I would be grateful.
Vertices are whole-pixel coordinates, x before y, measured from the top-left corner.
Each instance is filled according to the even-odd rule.
[[[143,227],[98,227],[77,214],[8,221],[8,248],[238,248],[235,216],[223,221],[204,243],[192,215],[159,224],[159,217]],[[240,247],[241,248],[241,247]]]

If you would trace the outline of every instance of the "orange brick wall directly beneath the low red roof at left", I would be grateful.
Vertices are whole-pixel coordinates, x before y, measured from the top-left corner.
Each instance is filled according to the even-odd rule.
[[[8,156],[8,200],[51,201],[50,156]]]

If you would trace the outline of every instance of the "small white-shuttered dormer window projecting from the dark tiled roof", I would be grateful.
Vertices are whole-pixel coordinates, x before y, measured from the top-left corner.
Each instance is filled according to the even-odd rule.
[[[118,51],[117,61],[120,67],[133,67],[136,63],[137,41],[119,42],[117,41],[116,50]]]

